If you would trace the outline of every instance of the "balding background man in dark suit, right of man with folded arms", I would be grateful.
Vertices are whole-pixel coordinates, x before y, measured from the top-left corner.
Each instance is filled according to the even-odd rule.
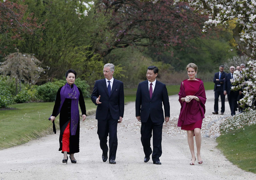
[[[233,86],[230,82],[230,79],[233,79],[233,73],[235,71],[235,67],[231,66],[229,68],[230,73],[227,73],[225,75],[225,80],[224,80],[224,85],[223,85],[223,90],[224,90],[224,95],[228,95],[228,103],[230,106],[231,110],[231,115],[234,116],[236,115],[236,104],[237,104],[237,97],[239,92],[238,91],[231,91],[231,87]]]

